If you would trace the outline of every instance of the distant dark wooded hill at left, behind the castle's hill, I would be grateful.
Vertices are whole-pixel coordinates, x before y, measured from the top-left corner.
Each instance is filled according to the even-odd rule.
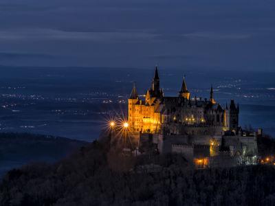
[[[76,148],[87,145],[65,137],[30,133],[0,133],[0,175],[30,161],[53,163],[66,157]]]

